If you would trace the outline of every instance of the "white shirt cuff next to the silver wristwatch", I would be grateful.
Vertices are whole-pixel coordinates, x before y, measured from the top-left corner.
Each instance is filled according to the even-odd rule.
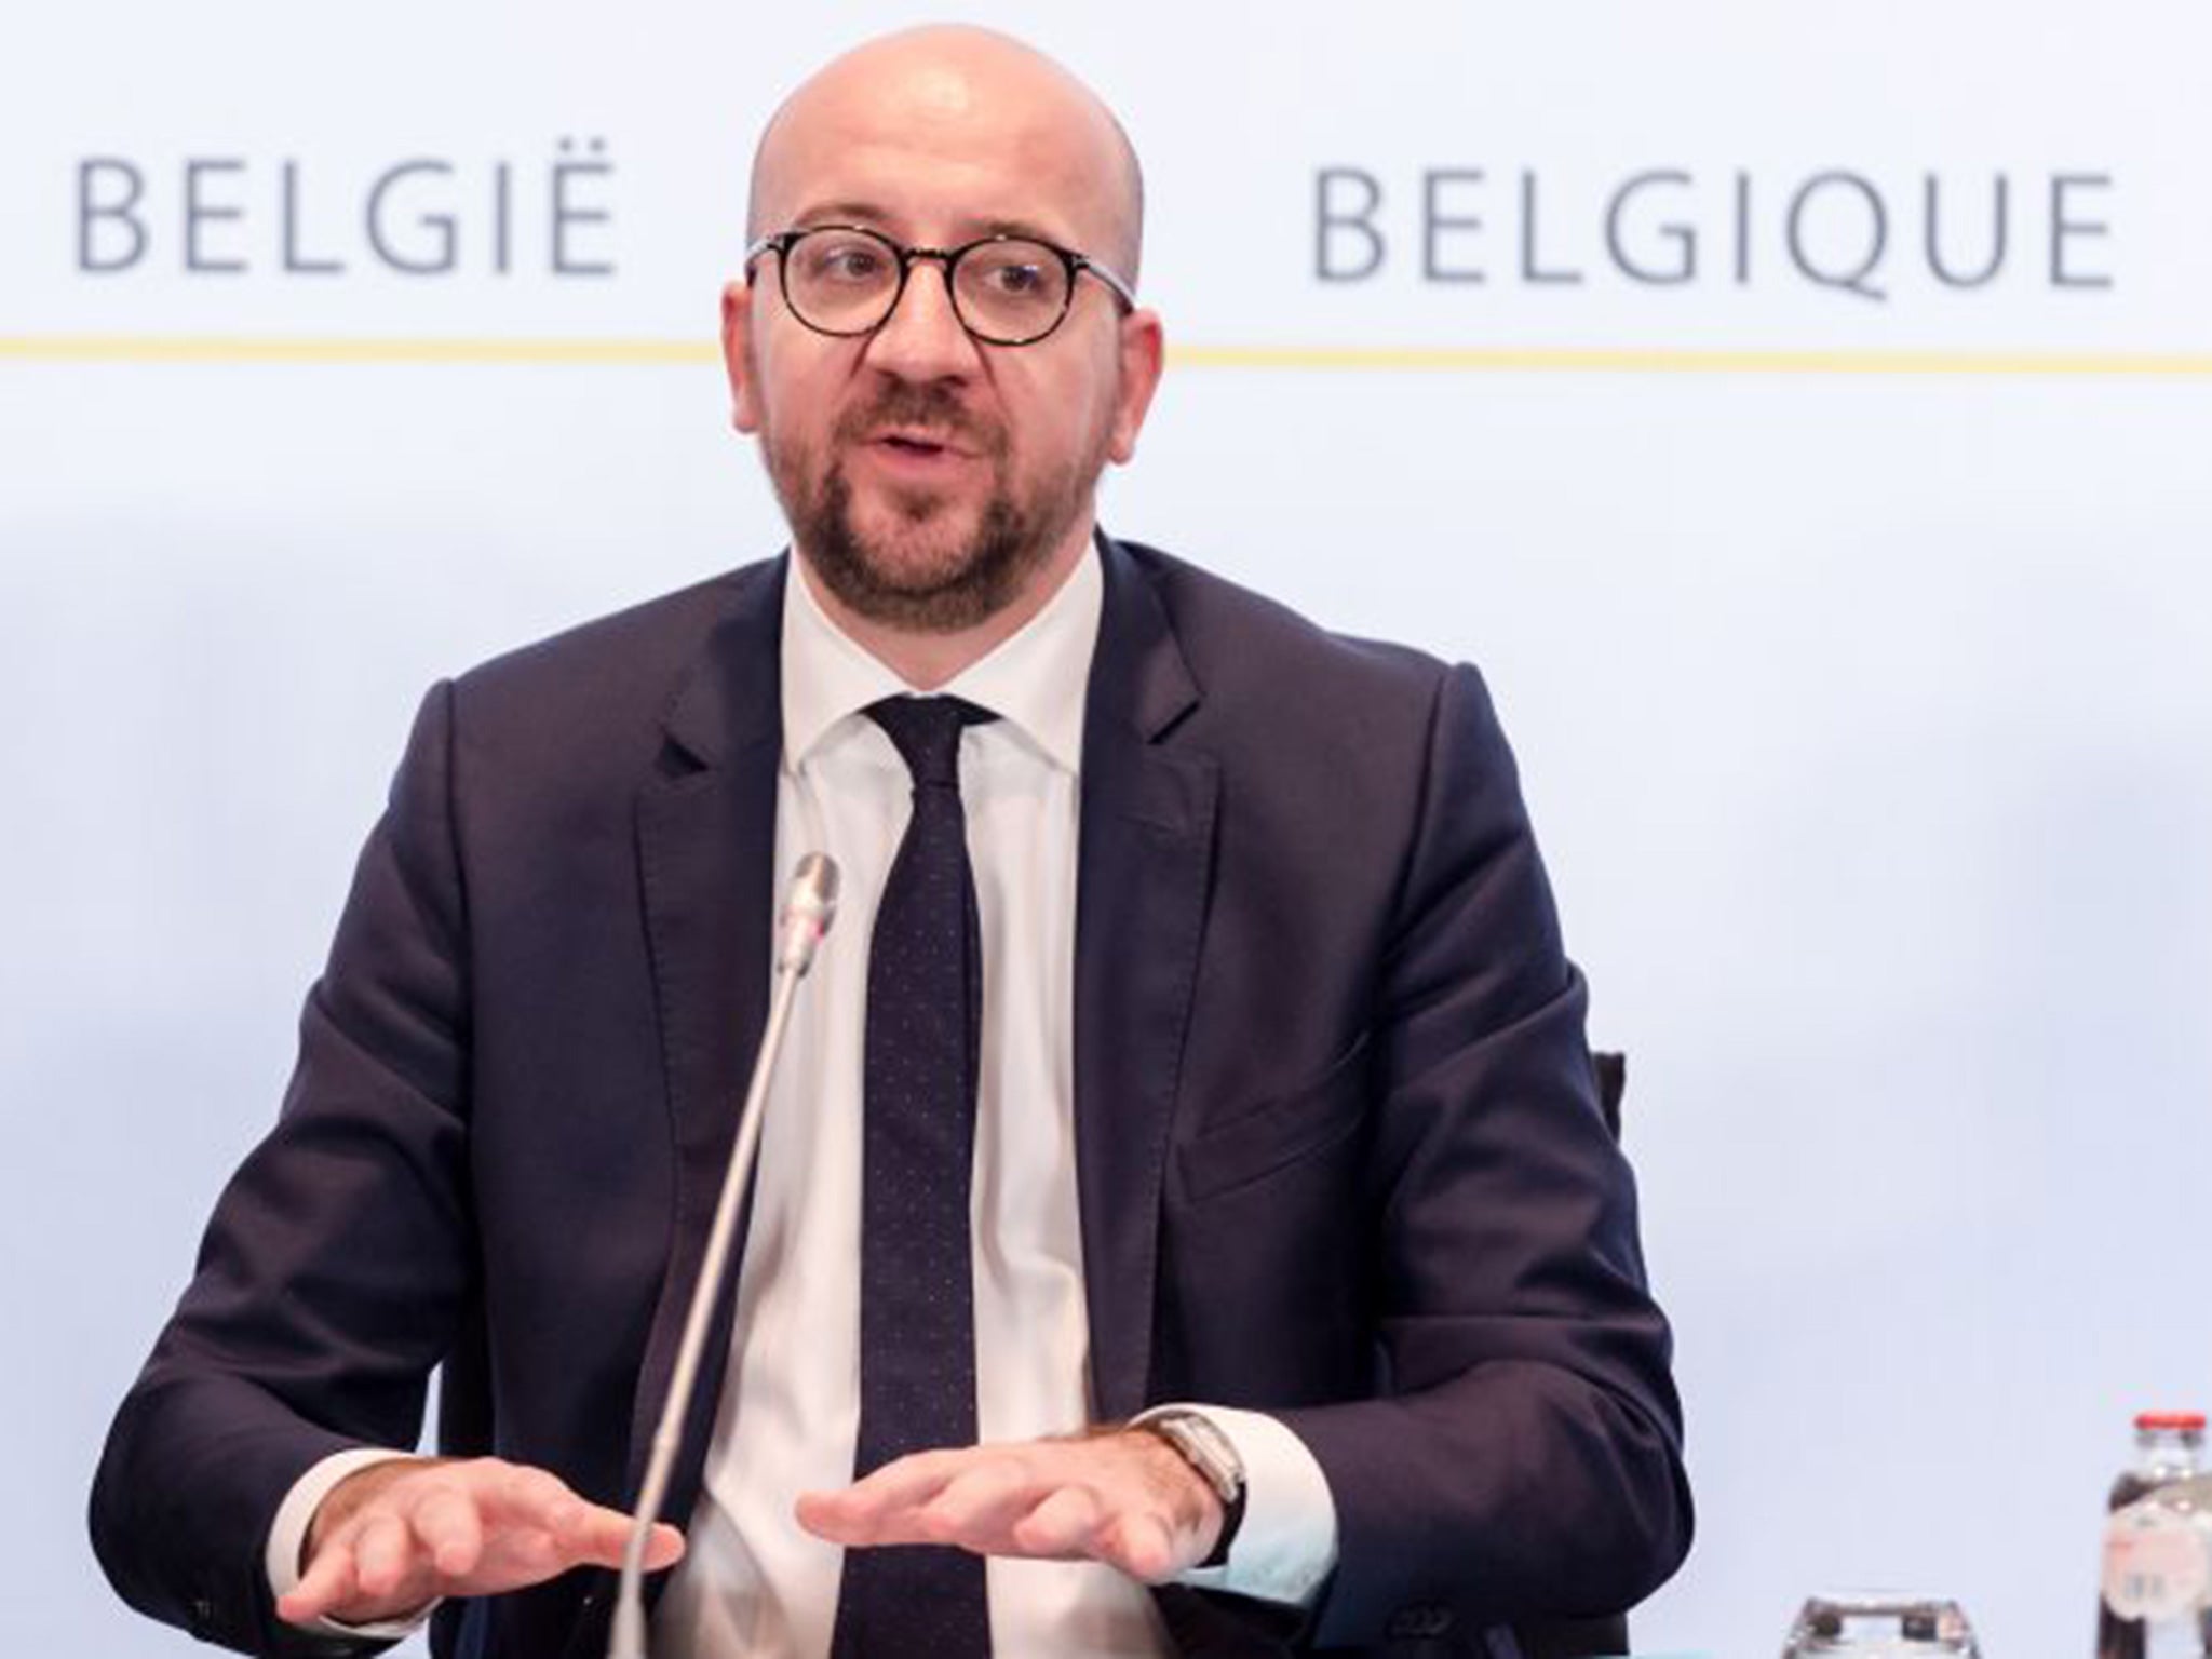
[[[1221,1566],[1194,1566],[1177,1584],[1225,1590],[1259,1601],[1312,1606],[1336,1571],[1336,1498],[1329,1478],[1305,1442],[1263,1411],[1223,1405],[1157,1405],[1159,1411],[1197,1411],[1237,1447],[1245,1471],[1245,1513]]]

